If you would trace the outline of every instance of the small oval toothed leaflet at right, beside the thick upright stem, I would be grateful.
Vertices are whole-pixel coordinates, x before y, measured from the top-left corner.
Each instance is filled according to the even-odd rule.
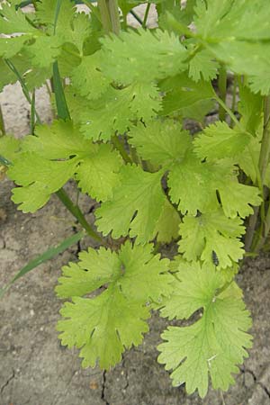
[[[194,150],[202,159],[207,157],[211,161],[235,157],[243,153],[251,138],[248,133],[237,128],[232,130],[226,122],[218,121],[194,139]]]

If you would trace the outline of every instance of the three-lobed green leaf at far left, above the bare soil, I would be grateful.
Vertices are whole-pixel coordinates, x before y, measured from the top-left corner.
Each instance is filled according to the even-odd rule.
[[[71,121],[38,126],[35,132],[36,136],[23,139],[23,154],[8,171],[15,183],[23,186],[13,190],[13,200],[22,203],[23,211],[40,209],[51,193],[74,176],[93,198],[111,197],[112,188],[119,184],[122,161],[110,145],[85,140]]]

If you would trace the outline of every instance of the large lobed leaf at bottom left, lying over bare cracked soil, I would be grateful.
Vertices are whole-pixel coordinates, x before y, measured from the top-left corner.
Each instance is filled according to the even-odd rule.
[[[134,246],[130,242],[118,254],[89,248],[80,254],[78,264],[63,267],[56,288],[58,296],[73,297],[58,321],[59,338],[68,347],[82,347],[83,366],[98,361],[108,369],[121,360],[124,348],[138,346],[142,333],[148,331],[145,320],[150,299],[172,291],[168,261],[151,254],[151,246]],[[106,285],[94,298],[80,298]]]

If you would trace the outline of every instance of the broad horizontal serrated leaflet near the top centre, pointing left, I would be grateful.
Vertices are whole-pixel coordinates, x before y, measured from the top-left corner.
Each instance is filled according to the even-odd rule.
[[[122,31],[101,41],[101,70],[123,85],[153,82],[185,69],[187,51],[174,33],[139,29]]]

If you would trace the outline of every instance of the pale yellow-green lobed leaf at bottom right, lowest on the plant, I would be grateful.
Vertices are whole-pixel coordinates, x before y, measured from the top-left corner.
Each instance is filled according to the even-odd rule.
[[[161,335],[166,342],[157,347],[161,352],[157,360],[166,364],[166,370],[173,370],[174,386],[185,383],[187,393],[198,390],[203,398],[209,375],[214,389],[227,391],[234,383],[231,374],[238,373],[246,349],[252,346],[245,304],[232,286],[219,293],[224,280],[213,266],[194,264],[176,277],[175,295],[166,302],[162,315],[189,319],[202,308],[202,318],[188,327],[168,327]]]

